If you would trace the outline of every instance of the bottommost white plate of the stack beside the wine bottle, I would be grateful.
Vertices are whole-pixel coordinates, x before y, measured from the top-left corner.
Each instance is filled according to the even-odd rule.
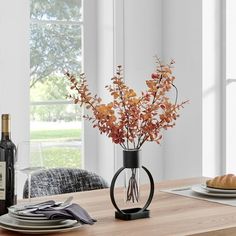
[[[82,225],[80,223],[75,224],[72,227],[62,228],[62,229],[19,229],[19,228],[12,228],[10,226],[0,225],[0,228],[15,231],[24,234],[50,234],[50,233],[62,233],[67,231],[72,231],[80,228]]]

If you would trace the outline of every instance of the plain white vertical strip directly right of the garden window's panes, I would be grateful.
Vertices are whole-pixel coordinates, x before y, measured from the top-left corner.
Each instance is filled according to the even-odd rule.
[[[84,4],[84,38],[83,53],[84,64],[83,71],[86,73],[89,87],[92,91],[97,89],[97,0],[86,0]],[[87,111],[85,111],[87,112]],[[86,170],[98,171],[98,155],[97,155],[97,133],[89,122],[83,123],[83,138],[85,140],[83,146],[84,163]],[[86,135],[85,135],[86,134]]]

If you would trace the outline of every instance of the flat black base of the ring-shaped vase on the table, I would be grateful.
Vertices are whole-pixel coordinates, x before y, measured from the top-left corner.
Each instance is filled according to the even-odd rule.
[[[137,220],[150,217],[150,211],[140,211],[142,208],[131,208],[115,212],[115,218],[120,220]]]

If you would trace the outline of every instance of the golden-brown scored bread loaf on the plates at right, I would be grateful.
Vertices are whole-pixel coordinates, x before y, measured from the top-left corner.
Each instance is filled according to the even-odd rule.
[[[206,181],[207,187],[219,189],[236,189],[236,176],[233,174],[217,176]]]

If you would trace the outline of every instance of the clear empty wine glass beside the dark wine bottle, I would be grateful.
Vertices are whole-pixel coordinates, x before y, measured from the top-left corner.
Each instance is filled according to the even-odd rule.
[[[23,141],[17,145],[17,170],[27,175],[28,200],[31,201],[31,175],[44,169],[42,143],[38,141]]]

